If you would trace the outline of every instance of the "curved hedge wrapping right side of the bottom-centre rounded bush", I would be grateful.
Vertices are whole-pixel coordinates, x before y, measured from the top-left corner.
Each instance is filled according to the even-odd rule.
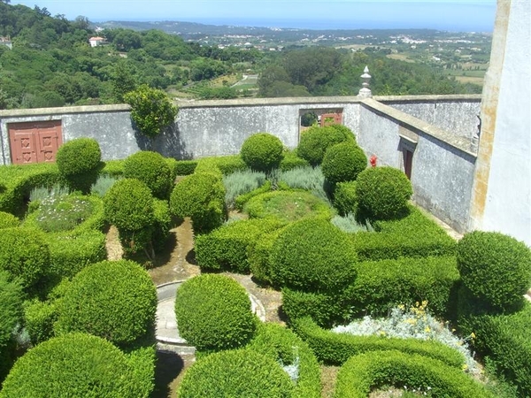
[[[278,324],[260,324],[255,338],[246,347],[293,368],[296,375],[293,398],[321,396],[320,367],[312,349],[295,333]]]

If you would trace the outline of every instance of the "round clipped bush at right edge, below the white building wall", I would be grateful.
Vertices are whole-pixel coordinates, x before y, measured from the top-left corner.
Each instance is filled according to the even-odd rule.
[[[463,284],[493,310],[511,310],[531,286],[531,250],[511,236],[474,231],[458,242]]]

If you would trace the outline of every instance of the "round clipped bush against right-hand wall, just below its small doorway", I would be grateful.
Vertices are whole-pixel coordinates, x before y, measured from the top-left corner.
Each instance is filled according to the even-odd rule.
[[[369,218],[398,218],[412,194],[410,180],[393,167],[372,167],[358,174],[358,209]]]

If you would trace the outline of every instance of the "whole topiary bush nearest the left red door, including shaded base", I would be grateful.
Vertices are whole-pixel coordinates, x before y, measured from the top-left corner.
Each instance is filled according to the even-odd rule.
[[[56,163],[59,174],[73,190],[88,194],[101,168],[102,152],[93,138],[76,138],[58,149]]]

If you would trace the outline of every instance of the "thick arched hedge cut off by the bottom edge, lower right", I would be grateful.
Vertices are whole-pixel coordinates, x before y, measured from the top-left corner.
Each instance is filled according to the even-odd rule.
[[[389,384],[429,391],[430,396],[494,397],[459,369],[426,356],[389,350],[350,357],[337,374],[334,396],[366,397],[374,387]]]

